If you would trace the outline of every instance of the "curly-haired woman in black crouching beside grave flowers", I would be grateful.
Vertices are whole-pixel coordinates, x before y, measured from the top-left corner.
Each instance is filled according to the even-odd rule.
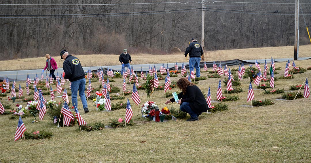
[[[178,99],[182,99],[176,101],[180,104],[180,110],[190,115],[190,119],[187,119],[187,121],[198,120],[199,115],[208,110],[208,105],[202,91],[184,77],[177,81],[177,86],[182,91],[178,94]],[[175,102],[175,99],[171,98],[165,104],[170,102]]]

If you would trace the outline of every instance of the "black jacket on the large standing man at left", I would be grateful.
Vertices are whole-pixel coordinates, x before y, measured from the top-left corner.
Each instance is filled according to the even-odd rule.
[[[85,75],[80,60],[72,55],[68,55],[63,62],[63,70],[65,72],[64,78],[69,81],[83,79]]]

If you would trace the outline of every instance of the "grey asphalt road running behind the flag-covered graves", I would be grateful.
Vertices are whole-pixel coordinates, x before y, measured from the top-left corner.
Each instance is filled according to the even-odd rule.
[[[305,59],[310,59],[311,57],[305,57],[305,58],[298,58],[298,60],[305,60]],[[277,58],[275,59],[276,62],[285,62],[287,61],[289,58]],[[293,60],[293,58],[291,58],[290,60]],[[243,61],[247,61],[247,62],[253,62],[255,63],[255,60],[243,60]],[[258,60],[259,63],[265,63],[265,59],[259,59]],[[267,59],[267,63],[270,63],[270,59]],[[159,63],[159,64],[153,64],[152,67],[154,65],[156,65],[157,70],[159,70],[159,68],[161,67],[163,63]],[[181,63],[177,63],[179,66],[181,66]],[[188,64],[188,63],[185,63]],[[149,65],[150,64],[136,64],[136,65],[132,65],[134,71],[137,72],[141,72],[141,70],[146,71],[149,69]],[[164,64],[165,67],[167,66],[167,64]],[[174,67],[174,63],[168,63],[169,68]],[[121,71],[121,64],[120,65],[115,65],[115,66],[103,66],[103,67],[83,67],[84,71],[86,72],[87,69],[91,70],[96,70],[98,68],[112,68],[114,70],[118,70]],[[29,76],[32,78],[32,80],[34,79],[34,77],[36,76],[36,74],[38,74],[38,77],[41,78],[41,72],[42,69],[37,69],[37,70],[17,70],[17,71],[0,71],[0,80],[2,80],[4,77],[8,77],[9,79],[17,79],[17,80],[26,80],[27,74],[29,74]],[[63,73],[63,68],[59,68],[54,74],[56,76],[56,73],[58,72],[58,74],[62,74]],[[44,72],[44,78],[46,77],[46,74],[48,74],[48,71]]]

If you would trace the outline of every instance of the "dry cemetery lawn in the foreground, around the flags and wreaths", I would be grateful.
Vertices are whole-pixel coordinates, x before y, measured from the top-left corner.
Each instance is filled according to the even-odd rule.
[[[290,57],[279,55],[280,57],[276,58]],[[229,51],[228,56],[231,56]],[[269,58],[270,55],[266,57]],[[258,58],[261,58],[259,53]],[[303,68],[311,66],[310,60],[295,63]],[[263,68],[263,64],[260,66]],[[276,70],[279,72],[276,77],[283,76],[285,62],[276,63],[276,67],[281,67],[281,70]],[[201,76],[209,74],[203,72]],[[303,84],[305,77],[310,75],[311,70],[307,70],[305,73],[294,74],[293,79],[278,79],[275,81],[275,88],[290,91],[290,85]],[[179,78],[180,74],[178,77],[171,77],[171,80],[177,81]],[[110,84],[118,86],[122,91],[123,80],[114,80]],[[208,87],[211,87],[211,99],[216,100],[218,81],[217,78],[207,78],[198,81],[197,85],[204,94],[207,94]],[[140,84],[143,82],[145,81],[140,81]],[[160,84],[163,82],[164,80],[160,80]],[[0,162],[311,162],[310,97],[276,100],[281,94],[264,94],[263,90],[254,90],[254,100],[271,99],[275,104],[242,107],[241,105],[250,105],[250,102],[247,102],[249,78],[240,82],[244,92],[234,94],[238,95],[239,99],[223,102],[229,106],[229,110],[203,113],[199,116],[199,121],[194,122],[187,122],[185,119],[164,123],[146,120],[141,114],[137,116],[140,107],[135,105],[128,95],[124,100],[112,100],[112,103],[130,99],[132,119],[136,123],[134,126],[80,132],[77,125],[57,128],[48,115],[45,115],[43,121],[36,123],[31,123],[34,118],[29,116],[23,119],[26,131],[45,129],[53,132],[53,137],[45,140],[20,139],[14,142],[17,120],[10,120],[11,115],[1,115],[0,142],[3,150],[0,152]],[[20,83],[25,85],[24,81],[17,82],[16,85]],[[99,85],[99,82],[92,83],[94,88],[98,88]],[[55,86],[53,88],[55,89]],[[253,84],[253,88],[257,86]],[[127,85],[127,90],[131,91],[132,85]],[[226,96],[223,83],[222,90]],[[169,90],[173,91],[179,90]],[[24,89],[24,95],[25,92]],[[139,91],[139,94],[142,96],[143,91]],[[49,95],[45,95],[45,98],[50,99]],[[164,91],[155,91],[149,98],[150,101],[155,101],[159,108],[166,106],[164,102],[167,99]],[[62,101],[61,98],[55,100]],[[5,98],[0,101],[12,107],[16,105]],[[142,97],[142,102],[145,101],[146,94]],[[79,97],[78,103],[78,106],[82,105]],[[25,102],[18,104],[26,105]],[[102,121],[108,124],[110,119],[124,119],[125,116],[123,109],[111,112],[96,111],[92,100],[88,100],[88,106],[88,114],[79,108],[87,123]],[[179,107],[176,103],[167,106]],[[189,117],[188,115],[187,118]]]

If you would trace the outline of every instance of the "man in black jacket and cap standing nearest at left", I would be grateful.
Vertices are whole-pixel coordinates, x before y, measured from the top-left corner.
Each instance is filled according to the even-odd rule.
[[[65,79],[71,81],[71,98],[72,105],[76,105],[78,107],[78,89],[79,95],[81,98],[81,102],[83,105],[84,112],[89,112],[87,108],[87,101],[84,94],[85,91],[85,72],[81,66],[80,60],[70,54],[66,50],[60,52],[60,59],[65,59],[63,62],[63,70],[65,72]]]

